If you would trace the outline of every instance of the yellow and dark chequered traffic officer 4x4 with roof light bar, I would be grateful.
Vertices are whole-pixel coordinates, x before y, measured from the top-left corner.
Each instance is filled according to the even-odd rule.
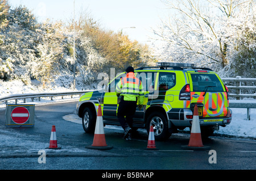
[[[191,128],[193,108],[197,104],[202,137],[210,136],[219,126],[230,124],[228,89],[218,75],[196,64],[158,62],[154,67],[135,70],[144,87],[144,107],[134,115],[136,128],[154,127],[155,139],[161,140],[177,130]],[[117,108],[120,98],[115,85],[125,73],[113,79],[105,91],[87,92],[77,103],[85,132],[94,132],[97,108],[101,105],[106,125],[119,125]]]

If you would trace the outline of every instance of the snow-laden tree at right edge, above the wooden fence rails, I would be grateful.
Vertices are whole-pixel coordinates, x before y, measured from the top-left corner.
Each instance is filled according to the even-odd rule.
[[[256,6],[253,3],[249,7],[241,8],[240,14],[230,18],[230,26],[233,27],[234,49],[230,66],[225,70],[232,71],[234,75],[243,77],[256,77]]]

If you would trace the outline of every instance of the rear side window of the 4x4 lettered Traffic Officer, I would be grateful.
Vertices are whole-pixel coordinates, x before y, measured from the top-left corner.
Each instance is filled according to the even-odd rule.
[[[176,85],[176,74],[168,72],[159,73],[159,91],[169,90]]]

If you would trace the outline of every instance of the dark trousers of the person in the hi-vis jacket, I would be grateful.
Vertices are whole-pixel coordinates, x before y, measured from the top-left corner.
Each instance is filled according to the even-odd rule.
[[[118,106],[117,117],[121,127],[123,129],[133,128],[133,116],[136,112],[137,101],[126,101],[123,100],[123,96],[121,97],[121,101]]]

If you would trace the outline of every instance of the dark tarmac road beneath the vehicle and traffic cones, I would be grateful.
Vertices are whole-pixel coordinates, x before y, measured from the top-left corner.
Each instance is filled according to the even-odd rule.
[[[122,129],[107,126],[104,128],[106,142],[113,149],[87,149],[85,146],[92,145],[94,135],[85,133],[81,124],[74,123],[75,109],[76,102],[36,106],[35,127],[30,128],[7,128],[5,110],[0,110],[0,169],[101,170],[101,174],[97,175],[100,177],[104,170],[115,173],[118,170],[256,169],[255,140],[210,137],[203,140],[203,144],[213,151],[184,150],[181,146],[188,144],[189,134],[177,133],[167,141],[156,141],[159,150],[145,150],[148,140],[146,131],[139,129],[134,139],[127,141],[122,138]],[[64,116],[71,121],[63,119]],[[56,126],[60,150],[46,149],[52,125]],[[46,163],[39,163],[43,161],[39,158],[40,150],[46,151]],[[122,176],[127,178],[127,172]]]

